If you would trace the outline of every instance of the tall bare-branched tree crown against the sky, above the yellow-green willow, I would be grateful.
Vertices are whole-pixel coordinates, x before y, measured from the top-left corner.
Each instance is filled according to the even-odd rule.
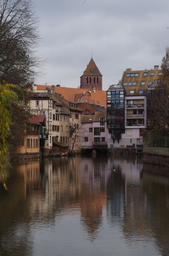
[[[0,0],[0,79],[24,86],[42,64],[35,50],[39,18],[31,0]]]

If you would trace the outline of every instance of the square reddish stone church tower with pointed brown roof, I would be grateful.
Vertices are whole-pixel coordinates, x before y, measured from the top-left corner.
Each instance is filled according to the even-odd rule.
[[[80,88],[102,90],[102,74],[92,58],[83,72],[83,75],[80,76]]]

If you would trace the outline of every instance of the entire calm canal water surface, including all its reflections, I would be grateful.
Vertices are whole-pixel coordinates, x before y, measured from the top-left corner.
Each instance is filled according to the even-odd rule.
[[[0,187],[0,255],[169,255],[167,167],[106,155],[12,167]]]

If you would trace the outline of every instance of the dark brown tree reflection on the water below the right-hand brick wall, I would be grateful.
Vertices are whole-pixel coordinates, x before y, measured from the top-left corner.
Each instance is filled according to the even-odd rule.
[[[165,168],[165,170],[164,170]],[[163,176],[161,173],[165,173]],[[143,191],[147,194],[147,221],[162,255],[169,255],[169,167],[144,164]]]

